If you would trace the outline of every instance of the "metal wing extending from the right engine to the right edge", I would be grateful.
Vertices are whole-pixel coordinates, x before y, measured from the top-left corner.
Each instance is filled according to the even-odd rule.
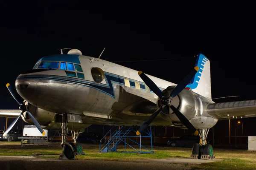
[[[219,120],[256,117],[256,100],[212,103],[207,106],[207,113]]]

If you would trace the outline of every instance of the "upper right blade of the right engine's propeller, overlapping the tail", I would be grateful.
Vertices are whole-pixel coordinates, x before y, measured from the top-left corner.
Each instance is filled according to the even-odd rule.
[[[195,76],[195,74],[198,72],[198,70],[199,70],[198,66],[194,67],[193,70],[190,71],[190,73],[183,80],[181,80],[181,82],[173,89],[170,96],[171,97],[177,96],[180,93],[180,91],[182,91],[186,87],[186,85],[189,84],[189,82]]]

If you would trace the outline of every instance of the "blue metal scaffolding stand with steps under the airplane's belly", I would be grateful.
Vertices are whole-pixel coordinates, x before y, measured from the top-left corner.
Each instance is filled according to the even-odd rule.
[[[134,130],[134,127],[131,127],[131,126],[128,128],[128,130],[125,129],[125,126],[122,126],[118,130],[114,130],[114,131],[112,129],[113,127],[101,139],[99,144],[99,152],[122,152],[122,153],[139,153],[139,154],[154,153],[153,145],[152,145],[151,126],[149,127],[149,130],[146,129],[142,134],[140,134],[140,136],[136,135],[136,131]],[[133,133],[135,133],[135,135],[133,135]],[[130,134],[131,136],[128,136]],[[140,143],[137,143],[131,138],[140,138]],[[141,145],[142,138],[150,138],[151,150]],[[121,142],[124,144],[124,151],[117,151],[117,147]],[[130,142],[130,144],[128,144],[128,142]],[[126,146],[128,146],[129,148],[132,148],[134,151],[127,151]],[[136,149],[135,147],[139,147],[139,148]]]

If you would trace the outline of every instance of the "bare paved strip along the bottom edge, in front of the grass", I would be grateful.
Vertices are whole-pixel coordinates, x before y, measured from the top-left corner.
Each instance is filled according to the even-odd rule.
[[[136,161],[58,160],[0,156],[0,170],[189,170],[191,163],[217,160],[151,159]],[[189,163],[191,162],[191,163]]]

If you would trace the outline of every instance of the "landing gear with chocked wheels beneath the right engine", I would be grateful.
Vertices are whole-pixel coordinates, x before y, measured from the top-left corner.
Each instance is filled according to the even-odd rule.
[[[207,144],[206,138],[209,129],[199,130],[200,142],[193,145],[191,159],[215,159],[213,155],[213,149],[211,144]]]

